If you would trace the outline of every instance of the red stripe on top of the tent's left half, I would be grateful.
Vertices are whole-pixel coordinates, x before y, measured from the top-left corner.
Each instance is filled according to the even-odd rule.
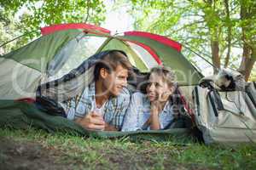
[[[103,33],[110,34],[110,31],[107,29],[102,28],[100,26],[93,26],[90,24],[59,24],[54,26],[46,26],[44,28],[41,28],[41,33],[43,36],[45,36],[55,31],[63,31],[69,29],[88,29],[92,31],[102,31]]]

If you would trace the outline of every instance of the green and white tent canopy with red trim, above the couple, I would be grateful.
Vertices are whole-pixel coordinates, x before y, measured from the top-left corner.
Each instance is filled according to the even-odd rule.
[[[41,29],[41,33],[41,37],[26,46],[0,56],[2,115],[3,111],[5,116],[8,115],[7,112],[17,111],[25,113],[26,118],[35,116],[36,114],[30,115],[30,111],[35,108],[27,103],[33,103],[36,99],[38,87],[49,87],[49,82],[55,83],[55,80],[63,82],[66,75],[72,75],[73,68],[105,50],[124,51],[131,64],[140,72],[147,72],[155,65],[169,66],[176,71],[177,82],[184,89],[198,84],[202,77],[181,53],[182,45],[160,35],[143,31],[125,31],[111,35],[107,29],[89,24],[47,26]],[[189,99],[191,93],[184,91]],[[26,105],[17,102],[25,102]],[[14,111],[10,111],[12,109]],[[30,121],[26,123],[28,122]],[[2,123],[4,124],[3,119]],[[42,125],[42,122],[38,124]]]

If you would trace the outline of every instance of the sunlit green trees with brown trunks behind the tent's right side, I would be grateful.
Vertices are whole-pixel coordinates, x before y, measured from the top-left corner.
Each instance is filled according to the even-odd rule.
[[[133,0],[132,14],[137,18],[135,26],[138,30],[165,35],[182,42],[184,46],[196,49],[207,60],[211,59],[212,64],[217,68],[214,70],[216,72],[220,67],[234,67],[230,60],[241,59],[241,54],[233,50],[242,51],[242,46],[245,44],[241,36],[241,26],[244,26],[242,23],[247,23],[245,25],[248,27],[247,44],[248,42],[251,44],[251,53],[246,59],[254,59],[251,56],[253,56],[253,35],[256,35],[254,26],[256,14],[252,9],[253,0],[246,1],[245,4],[250,7],[248,9],[250,14],[247,16],[249,19],[242,19],[239,14],[244,2],[242,0]],[[136,13],[138,8],[142,12]],[[191,57],[192,55],[189,56]],[[253,68],[253,62],[249,63],[244,67],[246,71],[241,71],[246,78]],[[237,69],[237,64],[235,66]]]

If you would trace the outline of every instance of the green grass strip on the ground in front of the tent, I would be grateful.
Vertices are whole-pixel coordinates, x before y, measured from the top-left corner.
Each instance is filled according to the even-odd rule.
[[[67,133],[45,133],[27,130],[0,129],[0,139],[20,144],[32,142],[41,151],[54,152],[55,163],[72,165],[63,169],[254,169],[256,144],[233,147],[219,144],[177,144],[123,139],[84,139]],[[3,155],[3,154],[2,154]],[[0,157],[1,159],[1,157]],[[1,161],[1,160],[0,160]]]

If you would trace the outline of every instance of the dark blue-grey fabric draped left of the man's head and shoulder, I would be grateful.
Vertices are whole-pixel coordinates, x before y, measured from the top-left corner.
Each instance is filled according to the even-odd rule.
[[[94,54],[89,59],[85,59],[78,68],[73,69],[67,75],[40,85],[37,90],[38,95],[62,102],[82,93],[84,88],[93,81],[93,66],[109,52],[108,50]]]

